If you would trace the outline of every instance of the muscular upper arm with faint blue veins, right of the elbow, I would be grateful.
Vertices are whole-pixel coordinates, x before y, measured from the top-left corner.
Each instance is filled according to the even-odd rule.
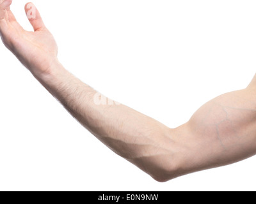
[[[212,99],[175,129],[180,173],[234,163],[256,154],[255,89]]]

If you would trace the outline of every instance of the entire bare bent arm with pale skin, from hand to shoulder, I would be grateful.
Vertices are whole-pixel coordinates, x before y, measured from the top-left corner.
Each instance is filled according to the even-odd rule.
[[[256,76],[245,89],[212,99],[171,129],[125,105],[95,103],[97,92],[58,61],[58,47],[38,11],[29,19],[35,32],[28,32],[15,20],[12,0],[0,3],[4,45],[85,128],[154,179],[164,182],[256,154]]]

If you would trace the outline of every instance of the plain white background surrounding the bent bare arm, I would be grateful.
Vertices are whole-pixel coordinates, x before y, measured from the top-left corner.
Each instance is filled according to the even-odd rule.
[[[12,10],[32,30],[25,3]],[[33,3],[69,71],[171,128],[255,74],[255,1]],[[256,190],[255,157],[154,181],[88,133],[2,44],[0,60],[1,191]]]

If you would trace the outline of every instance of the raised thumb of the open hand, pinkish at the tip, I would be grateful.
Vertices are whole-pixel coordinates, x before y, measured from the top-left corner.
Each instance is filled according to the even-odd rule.
[[[30,24],[33,26],[34,31],[38,31],[40,29],[44,29],[45,25],[40,16],[39,11],[36,9],[33,3],[27,3],[25,5],[26,15]]]

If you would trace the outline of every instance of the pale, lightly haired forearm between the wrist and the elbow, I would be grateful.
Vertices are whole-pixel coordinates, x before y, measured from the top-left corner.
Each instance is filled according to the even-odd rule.
[[[172,129],[113,101],[99,105],[95,101],[99,93],[61,64],[56,62],[51,70],[47,75],[35,77],[85,128],[155,179],[163,175],[167,161],[172,161],[169,138]]]

